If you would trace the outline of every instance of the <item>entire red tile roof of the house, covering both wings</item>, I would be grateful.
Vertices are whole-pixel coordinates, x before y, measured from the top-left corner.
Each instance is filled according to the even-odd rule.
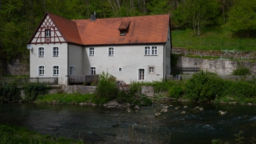
[[[96,19],[95,21],[68,20],[49,12],[45,13],[44,19],[47,15],[66,42],[79,45],[166,43],[170,25],[170,15]],[[126,34],[120,36],[120,30],[123,29]],[[31,43],[36,31],[28,43]]]

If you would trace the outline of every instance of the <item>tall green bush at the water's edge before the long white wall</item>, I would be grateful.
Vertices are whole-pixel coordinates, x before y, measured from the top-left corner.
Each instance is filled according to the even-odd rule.
[[[116,82],[113,81],[113,76],[108,72],[99,74],[99,81],[95,92],[95,102],[97,104],[104,104],[109,100],[116,99],[118,95],[118,88]]]

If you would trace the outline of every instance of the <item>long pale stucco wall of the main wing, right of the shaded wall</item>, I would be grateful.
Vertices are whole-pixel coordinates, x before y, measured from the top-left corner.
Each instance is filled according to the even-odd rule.
[[[145,56],[145,46],[157,46],[157,56]],[[114,47],[114,56],[108,56],[108,47]],[[89,56],[89,48],[85,47],[83,51],[83,73],[90,74],[90,67],[97,68],[97,74],[108,72],[129,84],[131,81],[138,81],[138,68],[145,68],[145,81],[159,80],[164,77],[163,71],[163,52],[164,45],[115,45],[115,46],[97,46],[95,55]],[[149,74],[148,67],[154,67],[155,73]],[[118,71],[122,67],[122,72]]]

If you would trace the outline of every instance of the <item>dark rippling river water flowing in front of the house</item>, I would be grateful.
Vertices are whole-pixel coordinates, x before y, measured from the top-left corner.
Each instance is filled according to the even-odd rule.
[[[235,143],[234,134],[239,131],[244,131],[244,143],[256,138],[256,106],[193,102],[165,105],[172,106],[156,118],[162,105],[138,111],[132,106],[132,112],[127,113],[124,108],[102,106],[4,104],[0,105],[0,124],[22,125],[41,134],[80,138],[89,143],[211,143],[212,139]],[[177,106],[180,108],[175,109]],[[195,111],[196,106],[204,110]],[[227,111],[227,115],[218,111]]]

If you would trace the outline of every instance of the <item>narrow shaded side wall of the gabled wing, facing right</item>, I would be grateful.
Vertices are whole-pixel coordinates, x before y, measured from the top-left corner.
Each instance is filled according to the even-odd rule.
[[[83,74],[83,47],[77,45],[69,45],[68,47],[68,67],[74,68],[74,75]],[[68,74],[69,73],[68,69]]]

